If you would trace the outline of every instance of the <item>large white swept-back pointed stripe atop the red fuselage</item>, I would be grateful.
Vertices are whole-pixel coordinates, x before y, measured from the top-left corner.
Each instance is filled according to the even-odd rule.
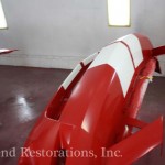
[[[121,82],[123,96],[125,97],[134,74],[134,67],[128,47],[121,42],[118,42],[102,48],[99,56],[91,63],[89,69],[103,64],[108,64],[114,68]]]

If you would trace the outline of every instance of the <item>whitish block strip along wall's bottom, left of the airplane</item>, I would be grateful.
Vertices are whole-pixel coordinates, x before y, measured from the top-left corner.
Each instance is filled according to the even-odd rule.
[[[84,58],[80,56],[7,54],[0,56],[0,65],[73,69]]]

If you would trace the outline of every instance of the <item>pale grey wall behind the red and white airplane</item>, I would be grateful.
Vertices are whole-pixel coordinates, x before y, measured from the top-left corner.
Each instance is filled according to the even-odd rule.
[[[73,68],[111,41],[139,32],[165,44],[164,0],[132,0],[131,28],[109,28],[107,0],[2,0],[8,30],[0,47],[20,51],[0,64]],[[165,58],[161,58],[165,66]]]

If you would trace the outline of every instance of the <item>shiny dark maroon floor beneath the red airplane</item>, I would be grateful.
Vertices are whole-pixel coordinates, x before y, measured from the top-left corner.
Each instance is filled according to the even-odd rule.
[[[0,165],[16,165],[20,147],[58,86],[70,70],[0,66],[0,151],[16,150],[16,157],[0,157]],[[150,84],[139,118],[151,122],[165,116],[165,78]],[[153,132],[154,133],[154,132]],[[165,165],[161,148],[134,165]]]

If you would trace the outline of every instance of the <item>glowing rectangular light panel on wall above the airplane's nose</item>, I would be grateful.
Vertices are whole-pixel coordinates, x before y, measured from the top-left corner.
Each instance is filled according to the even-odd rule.
[[[131,25],[130,0],[108,0],[108,20],[110,26]]]

